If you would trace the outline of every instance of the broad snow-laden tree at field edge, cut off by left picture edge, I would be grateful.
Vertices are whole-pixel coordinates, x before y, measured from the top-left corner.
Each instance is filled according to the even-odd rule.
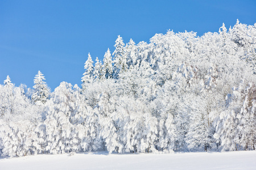
[[[36,154],[34,129],[40,121],[36,105],[20,87],[0,85],[0,154],[25,156]]]

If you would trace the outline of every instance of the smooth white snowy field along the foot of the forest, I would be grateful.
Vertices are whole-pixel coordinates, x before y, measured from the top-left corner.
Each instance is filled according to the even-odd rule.
[[[256,169],[256,151],[36,155],[1,158],[0,169]]]

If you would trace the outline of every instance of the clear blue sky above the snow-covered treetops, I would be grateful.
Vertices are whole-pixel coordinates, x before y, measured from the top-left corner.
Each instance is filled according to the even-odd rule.
[[[63,81],[79,84],[88,53],[103,59],[124,42],[149,42],[155,33],[218,32],[256,22],[256,1],[0,1],[0,83],[33,86],[40,70],[52,91]]]

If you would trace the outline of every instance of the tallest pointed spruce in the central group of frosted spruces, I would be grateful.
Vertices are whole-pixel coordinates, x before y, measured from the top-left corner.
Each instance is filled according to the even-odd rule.
[[[117,78],[119,73],[127,70],[127,58],[125,55],[125,44],[123,43],[122,37],[118,36],[115,40],[115,50],[113,53],[114,56],[114,69],[113,77]]]

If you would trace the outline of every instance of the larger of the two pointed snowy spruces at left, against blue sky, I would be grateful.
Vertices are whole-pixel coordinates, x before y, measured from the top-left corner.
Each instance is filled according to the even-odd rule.
[[[50,94],[49,87],[47,87],[46,82],[43,82],[45,80],[43,74],[38,71],[38,74],[36,74],[34,79],[34,93],[31,96],[31,99],[36,104],[45,104],[48,96]]]

